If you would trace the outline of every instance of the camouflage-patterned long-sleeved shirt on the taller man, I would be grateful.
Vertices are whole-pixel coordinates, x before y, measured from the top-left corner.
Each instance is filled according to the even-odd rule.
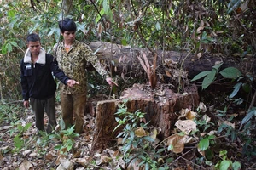
[[[68,52],[65,49],[64,42],[59,42],[59,44],[55,44],[53,52],[59,67],[67,77],[79,82],[79,85],[75,85],[73,88],[61,84],[61,92],[65,94],[86,93],[87,77],[85,66],[87,62],[90,62],[102,77],[108,77],[108,71],[102,67],[90,47],[83,42],[75,40]]]

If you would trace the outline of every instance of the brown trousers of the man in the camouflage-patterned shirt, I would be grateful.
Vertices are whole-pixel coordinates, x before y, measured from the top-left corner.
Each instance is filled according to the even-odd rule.
[[[66,127],[73,125],[73,116],[75,119],[75,132],[83,132],[84,127],[84,109],[86,94],[63,94],[61,93],[61,112],[62,119]]]

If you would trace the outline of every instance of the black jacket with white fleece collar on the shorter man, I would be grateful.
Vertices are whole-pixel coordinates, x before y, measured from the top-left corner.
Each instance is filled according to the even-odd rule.
[[[52,97],[56,90],[53,75],[64,84],[67,84],[67,80],[70,79],[61,71],[51,54],[45,54],[45,58],[38,59],[43,60],[43,62],[36,64],[32,64],[27,58],[25,56],[20,61],[22,98],[24,100],[29,98],[49,99]]]

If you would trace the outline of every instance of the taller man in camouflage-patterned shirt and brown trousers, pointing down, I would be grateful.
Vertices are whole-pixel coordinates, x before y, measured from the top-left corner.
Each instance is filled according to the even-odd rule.
[[[86,69],[87,62],[90,62],[96,71],[106,78],[109,85],[113,85],[113,80],[108,76],[100,61],[88,45],[75,40],[76,24],[72,19],[66,18],[59,21],[63,42],[56,43],[54,54],[62,71],[67,77],[79,82],[79,85],[69,88],[61,85],[61,110],[62,119],[66,127],[73,125],[73,115],[75,118],[75,132],[82,133],[84,127],[84,107],[86,102]]]

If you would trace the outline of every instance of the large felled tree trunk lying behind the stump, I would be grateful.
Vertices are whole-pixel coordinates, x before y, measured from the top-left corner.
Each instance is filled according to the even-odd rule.
[[[138,62],[137,56],[142,52],[147,54],[148,60],[152,65],[153,55],[147,48],[136,48],[113,44],[109,42],[90,42],[90,48],[97,51],[99,59],[104,60],[108,69],[113,74],[127,77],[145,76],[142,66]],[[172,70],[176,66],[178,69],[188,72],[188,78],[193,78],[201,71],[211,71],[212,66],[219,62],[224,62],[222,69],[226,67],[236,67],[240,71],[256,74],[255,59],[252,56],[224,57],[223,54],[205,54],[201,58],[196,58],[193,54],[179,53],[175,51],[157,50],[158,54],[158,72],[166,76],[166,71]],[[172,65],[170,62],[172,61]]]

